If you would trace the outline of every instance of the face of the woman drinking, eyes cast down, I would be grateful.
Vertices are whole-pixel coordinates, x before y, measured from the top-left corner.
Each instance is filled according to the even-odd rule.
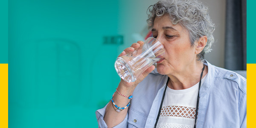
[[[165,47],[165,58],[157,62],[162,75],[189,70],[196,61],[195,47],[191,47],[189,33],[179,24],[172,24],[168,15],[156,17],[152,28],[154,38]]]

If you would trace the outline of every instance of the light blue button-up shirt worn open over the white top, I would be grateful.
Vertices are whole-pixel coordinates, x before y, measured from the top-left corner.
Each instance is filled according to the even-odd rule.
[[[208,75],[200,88],[196,128],[246,128],[247,80],[207,61],[204,64]],[[154,128],[167,79],[154,70],[140,82],[125,119],[114,128]],[[106,106],[96,111],[99,128],[107,128]]]

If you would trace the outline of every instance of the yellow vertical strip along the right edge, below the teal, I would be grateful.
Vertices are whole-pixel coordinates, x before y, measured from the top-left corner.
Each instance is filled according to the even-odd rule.
[[[255,128],[256,106],[256,64],[247,64],[247,128]]]

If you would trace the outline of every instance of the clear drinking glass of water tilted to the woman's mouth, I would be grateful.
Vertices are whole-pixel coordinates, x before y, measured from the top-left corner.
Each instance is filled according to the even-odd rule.
[[[163,45],[156,38],[150,37],[143,46],[116,59],[115,69],[127,82],[134,82],[145,70],[164,58]]]

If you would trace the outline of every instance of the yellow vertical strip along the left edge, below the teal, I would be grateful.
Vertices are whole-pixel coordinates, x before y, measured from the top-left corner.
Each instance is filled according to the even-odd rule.
[[[0,64],[0,128],[8,128],[8,64]]]

